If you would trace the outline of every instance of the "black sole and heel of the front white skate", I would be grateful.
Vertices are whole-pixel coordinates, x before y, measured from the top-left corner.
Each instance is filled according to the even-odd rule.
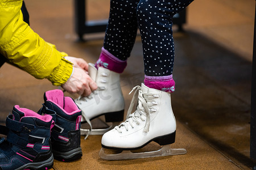
[[[160,136],[160,137],[156,137],[154,139],[151,139],[150,141],[144,143],[142,146],[139,146],[139,147],[133,147],[133,148],[119,148],[119,147],[109,147],[109,146],[105,146],[105,145],[102,145],[101,146],[103,148],[106,148],[106,149],[111,149],[111,150],[138,150],[146,145],[148,145],[148,143],[154,141],[156,143],[158,143],[160,146],[163,146],[163,145],[170,145],[172,143],[175,142],[175,135],[176,135],[176,130],[173,132],[173,133],[170,133],[170,134],[167,134],[167,135],[163,135],[163,136]]]

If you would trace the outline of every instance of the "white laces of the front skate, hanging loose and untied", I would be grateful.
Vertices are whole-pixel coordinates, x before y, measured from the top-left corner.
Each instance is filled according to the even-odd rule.
[[[146,121],[144,131],[148,132],[150,128],[150,113],[154,113],[157,111],[154,106],[158,105],[158,103],[154,99],[159,97],[158,94],[144,93],[142,92],[140,86],[134,87],[131,92],[133,91],[135,92],[127,112],[126,121],[122,122],[119,126],[115,126],[115,130],[117,130],[119,133],[122,133],[122,126],[124,126],[126,131],[128,131],[129,125],[131,126],[131,128],[134,128],[134,122],[137,125],[140,125],[139,120],[142,120],[143,122]],[[131,94],[131,92],[129,93],[129,95]],[[135,112],[131,113],[135,106],[137,107]],[[142,116],[145,116],[146,120]]]

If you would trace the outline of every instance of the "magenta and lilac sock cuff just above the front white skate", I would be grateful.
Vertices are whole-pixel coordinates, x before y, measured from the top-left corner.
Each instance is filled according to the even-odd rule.
[[[145,86],[149,88],[155,88],[164,92],[174,92],[175,81],[172,79],[172,75],[168,76],[147,76],[144,78]]]

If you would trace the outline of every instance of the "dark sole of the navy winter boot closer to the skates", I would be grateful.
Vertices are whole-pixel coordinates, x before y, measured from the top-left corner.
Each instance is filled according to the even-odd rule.
[[[82,149],[81,147],[75,148],[68,152],[58,152],[52,151],[54,159],[62,161],[62,162],[71,162],[74,160],[78,160],[82,157]]]

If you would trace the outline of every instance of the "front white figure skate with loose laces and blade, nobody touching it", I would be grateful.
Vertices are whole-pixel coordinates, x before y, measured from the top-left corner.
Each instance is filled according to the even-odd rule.
[[[101,140],[100,157],[106,160],[149,158],[186,154],[183,148],[172,149],[175,142],[176,120],[171,107],[171,94],[142,86],[133,88],[134,96],[127,113],[127,120],[105,133]],[[132,109],[137,107],[134,113]],[[158,151],[131,152],[151,141],[163,146]],[[106,154],[106,149],[122,151]]]

